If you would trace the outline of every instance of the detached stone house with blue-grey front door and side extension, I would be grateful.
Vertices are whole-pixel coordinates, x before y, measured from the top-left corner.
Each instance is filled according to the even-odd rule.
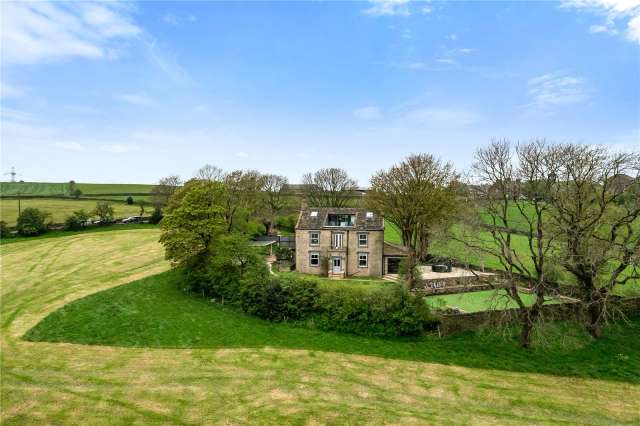
[[[296,224],[296,270],[306,274],[381,277],[397,274],[403,247],[385,243],[384,219],[356,208],[308,208]]]

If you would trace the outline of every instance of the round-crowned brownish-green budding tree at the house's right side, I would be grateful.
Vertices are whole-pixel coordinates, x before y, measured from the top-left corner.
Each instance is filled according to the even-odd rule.
[[[406,270],[413,285],[418,261],[426,257],[434,233],[457,209],[458,175],[450,163],[414,154],[377,172],[370,183],[365,204],[398,227],[409,248]]]

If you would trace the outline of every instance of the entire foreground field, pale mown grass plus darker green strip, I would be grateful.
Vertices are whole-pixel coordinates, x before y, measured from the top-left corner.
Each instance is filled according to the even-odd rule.
[[[640,422],[637,320],[527,352],[476,335],[390,341],[264,323],[178,292],[171,274],[100,293],[166,270],[158,235],[0,247],[3,423]],[[32,338],[101,344],[23,340],[50,314]]]

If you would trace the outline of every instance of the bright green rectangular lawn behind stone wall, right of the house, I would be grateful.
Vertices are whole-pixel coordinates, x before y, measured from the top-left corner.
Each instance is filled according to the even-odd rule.
[[[533,305],[535,295],[520,293],[525,305]],[[487,310],[503,310],[517,308],[518,305],[504,290],[472,291],[467,293],[443,294],[428,296],[427,303],[434,309],[458,308],[463,312],[480,312]],[[546,304],[560,303],[554,298],[547,298]]]

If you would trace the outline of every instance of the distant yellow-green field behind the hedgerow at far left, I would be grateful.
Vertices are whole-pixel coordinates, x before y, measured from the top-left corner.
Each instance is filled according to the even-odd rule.
[[[50,213],[49,219],[53,223],[63,223],[67,216],[71,215],[74,211],[85,209],[87,212],[91,212],[96,207],[95,200],[73,200],[73,199],[60,199],[60,198],[30,198],[20,200],[20,208],[24,210],[27,207],[35,207],[45,212]],[[126,203],[111,202],[116,218],[124,218],[140,213],[140,207],[134,205],[127,205]],[[147,207],[151,213],[151,208]],[[13,226],[18,219],[18,200],[15,199],[0,199],[0,217]]]

